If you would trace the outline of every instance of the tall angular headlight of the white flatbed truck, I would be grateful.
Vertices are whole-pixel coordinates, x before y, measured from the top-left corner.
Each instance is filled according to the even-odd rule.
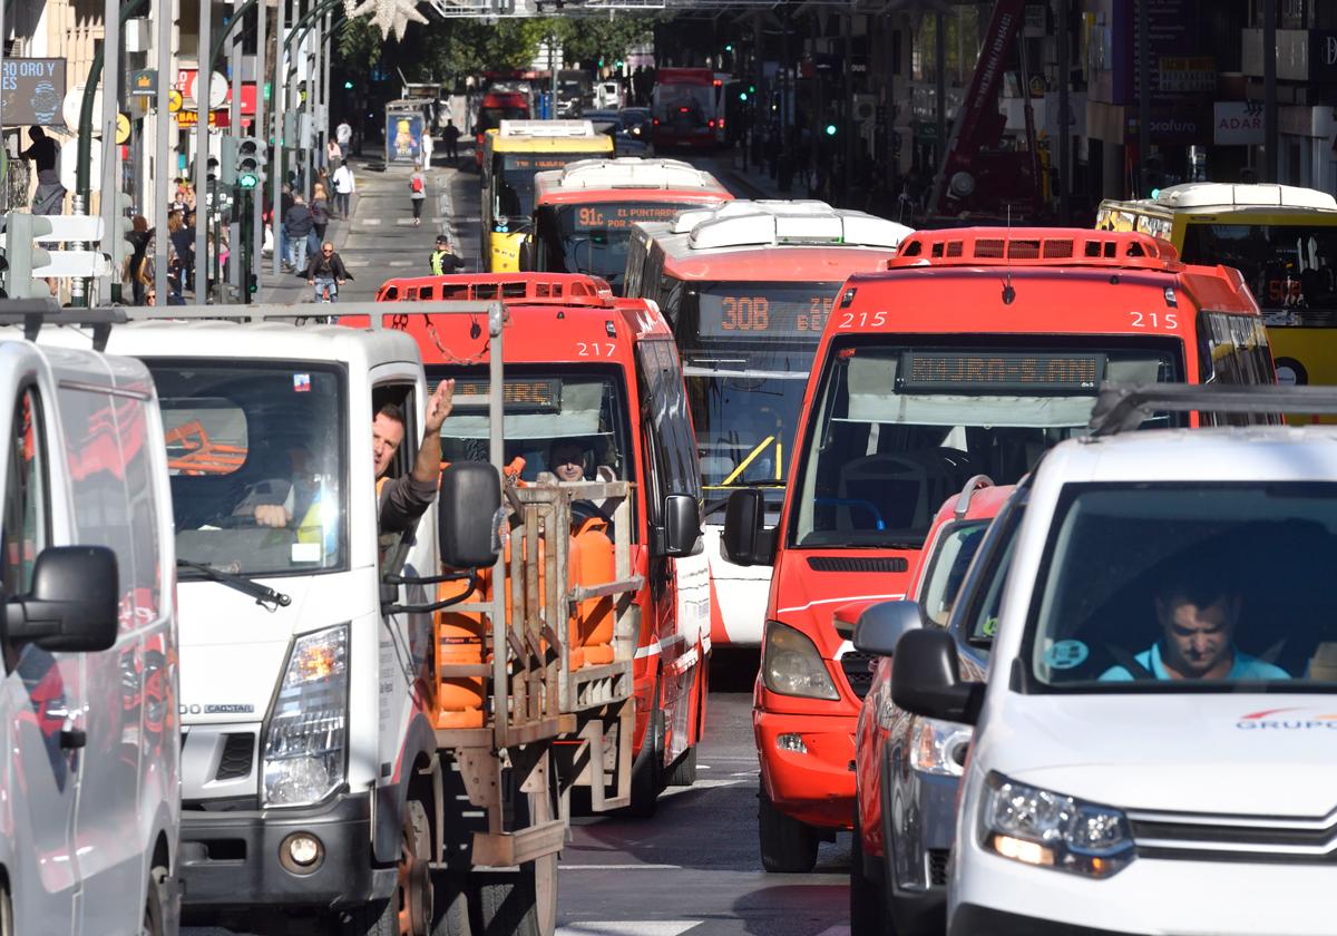
[[[320,802],[344,782],[348,761],[348,624],[293,643],[265,737],[265,801]]]

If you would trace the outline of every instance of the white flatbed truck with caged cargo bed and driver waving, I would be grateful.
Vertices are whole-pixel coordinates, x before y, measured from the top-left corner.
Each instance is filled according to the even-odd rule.
[[[501,306],[425,305],[488,324],[500,465]],[[382,535],[369,429],[400,409],[386,477],[408,473],[427,400],[417,345],[381,330],[380,314],[370,329],[259,321],[295,314],[154,310],[111,337],[163,400],[180,556],[185,919],[258,933],[552,933],[567,790],[591,786],[596,808],[630,792],[634,615],[619,619],[612,665],[564,666],[568,608],[591,598],[568,586],[570,538],[558,535],[571,491],[508,491],[521,516],[501,525],[517,521],[512,543],[525,544],[509,575],[492,544],[500,475],[487,464],[445,471],[416,530]],[[172,321],[202,316],[242,321]],[[626,484],[604,487],[626,499]],[[258,523],[261,504],[282,505],[286,521]],[[532,554],[540,540],[545,552]],[[623,578],[600,594],[639,586]],[[483,662],[445,655],[447,604],[485,622]],[[484,686],[485,719],[445,727],[436,702],[460,679]]]

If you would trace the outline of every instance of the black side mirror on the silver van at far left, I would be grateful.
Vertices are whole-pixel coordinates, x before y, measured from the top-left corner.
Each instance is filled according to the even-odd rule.
[[[43,650],[107,650],[116,643],[119,591],[116,554],[107,547],[47,547],[32,568],[32,591],[4,607],[5,632]]]

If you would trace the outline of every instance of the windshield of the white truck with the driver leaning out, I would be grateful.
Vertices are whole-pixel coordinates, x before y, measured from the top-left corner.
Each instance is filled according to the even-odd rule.
[[[147,364],[163,415],[176,555],[238,575],[344,566],[342,373],[287,362]]]

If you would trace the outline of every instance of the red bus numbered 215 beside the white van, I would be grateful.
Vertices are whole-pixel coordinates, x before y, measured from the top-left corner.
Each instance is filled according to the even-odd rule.
[[[733,562],[774,568],[753,707],[769,870],[812,869],[854,814],[876,658],[838,619],[904,598],[939,504],[976,475],[1016,483],[1084,435],[1103,381],[1274,382],[1239,273],[1146,234],[976,227],[919,231],[841,287],[779,523],[755,489],[725,521]]]

